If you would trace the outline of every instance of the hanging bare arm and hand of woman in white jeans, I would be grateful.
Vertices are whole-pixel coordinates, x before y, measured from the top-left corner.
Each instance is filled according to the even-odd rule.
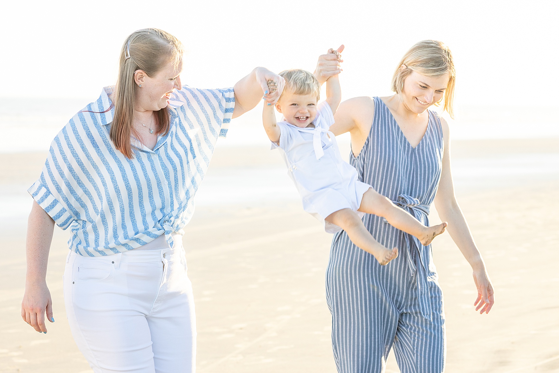
[[[54,220],[33,201],[27,221],[27,274],[21,317],[37,332],[43,333],[46,333],[45,312],[48,320],[54,322],[53,301],[46,286],[46,265],[49,261],[53,231]]]

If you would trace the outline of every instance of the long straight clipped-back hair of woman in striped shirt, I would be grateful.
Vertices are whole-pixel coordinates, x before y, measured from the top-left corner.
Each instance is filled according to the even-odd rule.
[[[136,89],[141,89],[134,82],[134,72],[143,70],[153,77],[169,62],[174,67],[182,61],[183,46],[168,32],[159,29],[142,29],[132,32],[126,38],[120,51],[119,77],[113,96],[115,116],[113,117],[110,136],[115,148],[127,158],[134,157],[130,144]],[[157,134],[169,131],[169,112],[167,108],[155,112]]]

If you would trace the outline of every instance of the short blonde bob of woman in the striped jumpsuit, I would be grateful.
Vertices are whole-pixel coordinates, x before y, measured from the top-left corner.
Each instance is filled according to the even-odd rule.
[[[406,52],[392,77],[392,91],[401,93],[405,79],[412,73],[418,72],[426,77],[437,78],[448,74],[447,89],[444,92],[444,106],[451,118],[454,118],[454,84],[456,70],[451,50],[447,45],[437,40],[423,40],[415,44]],[[435,103],[439,105],[440,101]]]

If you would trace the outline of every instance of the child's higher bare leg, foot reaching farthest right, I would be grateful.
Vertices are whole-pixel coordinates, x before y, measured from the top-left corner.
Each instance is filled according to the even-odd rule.
[[[419,238],[421,244],[425,246],[430,244],[433,238],[443,233],[448,225],[444,222],[435,226],[425,226],[411,216],[408,211],[400,209],[400,207],[394,205],[391,200],[377,193],[373,188],[369,188],[368,191],[363,193],[359,211],[382,216],[392,226]]]

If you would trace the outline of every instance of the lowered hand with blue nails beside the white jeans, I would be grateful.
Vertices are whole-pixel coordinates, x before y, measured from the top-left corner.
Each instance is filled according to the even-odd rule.
[[[46,318],[54,323],[53,300],[50,298],[46,282],[25,286],[25,295],[21,303],[21,318],[37,332],[46,334]]]

